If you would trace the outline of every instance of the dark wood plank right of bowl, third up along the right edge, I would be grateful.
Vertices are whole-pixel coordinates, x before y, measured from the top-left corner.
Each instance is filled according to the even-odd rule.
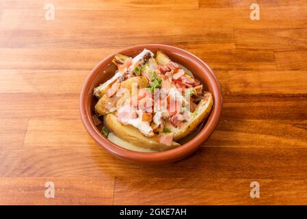
[[[307,120],[219,120],[217,129],[204,143],[209,147],[307,148]]]

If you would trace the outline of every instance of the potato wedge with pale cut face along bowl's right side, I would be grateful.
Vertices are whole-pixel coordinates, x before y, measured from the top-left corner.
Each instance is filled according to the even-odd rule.
[[[211,112],[213,105],[213,96],[211,92],[204,92],[204,98],[198,103],[196,110],[191,114],[189,121],[183,125],[180,129],[174,134],[174,140],[180,140],[185,138],[191,131],[196,129],[198,124],[202,122]]]

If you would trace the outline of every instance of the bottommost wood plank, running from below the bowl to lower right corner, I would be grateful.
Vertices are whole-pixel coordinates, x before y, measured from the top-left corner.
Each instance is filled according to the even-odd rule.
[[[250,197],[250,183],[260,198]],[[140,177],[118,178],[116,205],[293,205],[306,203],[306,180]],[[138,198],[135,198],[138,197]],[[295,198],[294,198],[295,197]]]

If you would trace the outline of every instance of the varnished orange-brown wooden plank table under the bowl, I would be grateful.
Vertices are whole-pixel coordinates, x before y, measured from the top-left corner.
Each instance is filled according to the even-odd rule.
[[[0,204],[307,204],[305,0],[0,2]],[[222,86],[217,129],[175,164],[122,162],[79,118],[90,70],[143,43],[198,55]]]

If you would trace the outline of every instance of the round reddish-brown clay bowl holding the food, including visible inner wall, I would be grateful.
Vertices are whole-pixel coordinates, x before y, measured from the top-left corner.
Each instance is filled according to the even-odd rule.
[[[213,130],[217,126],[219,116],[222,112],[222,92],[219,88],[219,83],[213,73],[213,70],[211,70],[206,63],[200,60],[200,58],[187,51],[184,51],[183,49],[178,49],[176,47],[163,44],[142,44],[123,49],[117,53],[134,57],[145,48],[149,49],[153,53],[156,53],[157,50],[161,49],[173,61],[183,64],[183,66],[189,68],[193,75],[202,81],[204,84],[204,90],[209,90],[212,92],[214,100],[213,109],[211,110],[211,114],[209,115],[206,124],[202,127],[200,132],[194,136],[194,138],[185,144],[178,146],[176,149],[155,153],[130,151],[109,142],[109,140],[107,140],[107,138],[105,138],[101,134],[100,130],[98,130],[98,128],[94,125],[92,120],[92,115],[94,113],[93,108],[94,104],[96,103],[96,100],[93,97],[93,88],[98,86],[99,83],[107,81],[107,79],[114,75],[116,66],[111,63],[111,60],[116,53],[109,55],[104,60],[99,62],[85,80],[80,95],[79,110],[81,120],[90,136],[92,136],[92,138],[99,145],[103,146],[104,149],[109,151],[109,153],[119,157],[120,159],[137,164],[165,164],[175,162],[187,157],[188,155],[191,155],[191,153],[195,152],[202,145],[202,143],[206,141],[209,136],[211,136],[211,133],[213,133]]]

